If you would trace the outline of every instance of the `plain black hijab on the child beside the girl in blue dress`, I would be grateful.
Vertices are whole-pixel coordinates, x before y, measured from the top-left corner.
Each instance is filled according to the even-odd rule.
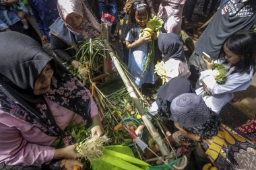
[[[170,58],[185,62],[185,54],[183,50],[183,42],[179,35],[174,33],[160,33],[158,35],[158,47],[162,52],[164,62]]]

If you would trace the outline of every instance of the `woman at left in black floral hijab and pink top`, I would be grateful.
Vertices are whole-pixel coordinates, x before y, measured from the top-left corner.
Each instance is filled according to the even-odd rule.
[[[63,159],[66,169],[82,167],[75,160],[76,144],[64,130],[73,120],[86,121],[94,124],[92,136],[102,135],[90,92],[32,38],[2,32],[0,40],[0,163],[42,165]],[[51,147],[57,137],[65,148]]]

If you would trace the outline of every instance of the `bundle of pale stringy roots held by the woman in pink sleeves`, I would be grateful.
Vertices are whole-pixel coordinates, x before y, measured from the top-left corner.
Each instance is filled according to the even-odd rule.
[[[106,135],[86,138],[83,142],[80,142],[75,150],[82,155],[82,158],[88,161],[94,161],[99,159],[103,154],[103,144],[109,142],[109,140]]]

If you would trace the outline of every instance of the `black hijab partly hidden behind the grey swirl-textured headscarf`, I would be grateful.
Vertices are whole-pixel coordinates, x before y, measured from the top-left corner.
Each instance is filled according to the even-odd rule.
[[[184,77],[174,77],[168,83],[162,85],[157,92],[158,113],[170,118],[170,103],[172,103],[172,100],[183,93],[195,93],[195,89]]]

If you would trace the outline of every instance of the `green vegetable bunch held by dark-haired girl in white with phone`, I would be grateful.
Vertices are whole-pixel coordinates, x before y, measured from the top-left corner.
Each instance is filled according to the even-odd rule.
[[[227,69],[220,64],[214,63],[214,79],[219,84],[224,84],[226,82]]]

